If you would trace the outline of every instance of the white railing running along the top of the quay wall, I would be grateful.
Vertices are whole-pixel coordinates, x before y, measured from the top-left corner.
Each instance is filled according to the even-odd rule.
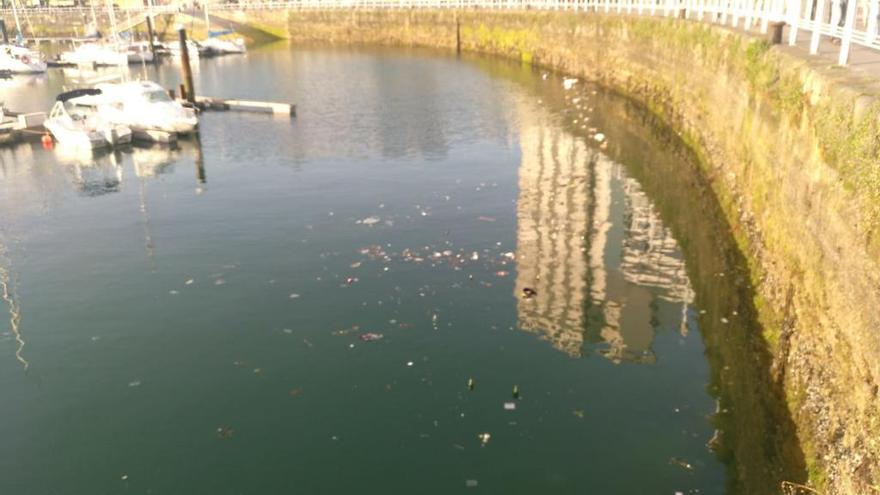
[[[815,55],[822,37],[840,43],[838,63],[846,65],[853,44],[880,50],[880,0],[291,0],[211,3],[212,11],[317,9],[491,9],[569,10],[645,16],[675,16],[767,33],[771,24],[788,26],[790,45],[802,44]],[[189,2],[136,6],[154,14],[188,12]],[[88,7],[20,9],[27,14],[80,13]],[[99,12],[104,9],[98,9]],[[120,9],[124,10],[124,9]],[[4,16],[11,11],[0,10]]]

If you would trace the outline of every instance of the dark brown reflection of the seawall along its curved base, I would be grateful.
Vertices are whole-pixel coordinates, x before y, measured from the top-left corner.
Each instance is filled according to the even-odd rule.
[[[709,392],[717,403],[716,435],[708,447],[728,466],[727,493],[780,493],[783,481],[803,482],[804,454],[784,391],[773,378],[747,261],[694,152],[660,119],[619,94],[583,83],[565,91],[559,77],[544,80],[528,66],[462,59],[526,87],[568,132],[593,147],[598,143],[572,124],[571,100],[595,93],[590,127],[605,134],[604,154],[641,184],[685,257],[701,309],[697,321],[711,369]]]

